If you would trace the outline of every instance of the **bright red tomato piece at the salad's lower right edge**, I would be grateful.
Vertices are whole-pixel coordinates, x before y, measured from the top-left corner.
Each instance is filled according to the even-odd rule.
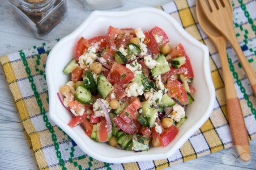
[[[166,130],[164,133],[162,133],[160,137],[160,143],[164,147],[171,143],[171,141],[176,137],[176,135],[179,133],[179,129],[176,126],[171,126],[170,129]]]

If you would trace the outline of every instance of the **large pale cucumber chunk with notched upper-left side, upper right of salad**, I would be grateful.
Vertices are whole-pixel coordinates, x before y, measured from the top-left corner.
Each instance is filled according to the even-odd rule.
[[[153,76],[162,75],[171,70],[163,54],[160,54],[156,59],[156,61],[159,62],[160,64],[158,66],[155,66],[153,69],[151,69],[151,74]]]

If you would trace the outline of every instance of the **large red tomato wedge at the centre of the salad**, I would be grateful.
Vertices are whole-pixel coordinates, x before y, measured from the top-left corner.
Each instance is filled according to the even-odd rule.
[[[122,64],[115,62],[107,76],[107,80],[111,83],[126,84],[134,79],[134,74],[130,69]]]

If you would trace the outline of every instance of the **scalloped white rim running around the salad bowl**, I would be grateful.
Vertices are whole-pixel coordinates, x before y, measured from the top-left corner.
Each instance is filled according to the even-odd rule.
[[[73,39],[77,34],[80,34],[83,29],[85,29],[86,26],[94,19],[95,16],[98,15],[104,15],[104,17],[108,16],[123,16],[123,15],[129,15],[136,12],[152,12],[162,15],[162,17],[165,17],[168,21],[171,22],[172,25],[175,26],[175,29],[182,34],[190,43],[196,45],[197,47],[201,48],[203,51],[203,71],[204,71],[204,78],[206,81],[207,89],[209,92],[210,100],[208,108],[205,112],[205,114],[199,119],[196,124],[194,124],[186,133],[183,134],[182,137],[179,138],[179,141],[175,143],[172,149],[167,151],[166,153],[159,153],[159,154],[148,154],[141,156],[140,154],[134,154],[129,156],[123,156],[119,158],[108,158],[105,156],[102,156],[100,153],[95,153],[93,150],[90,149],[90,147],[87,147],[85,141],[82,141],[77,134],[70,131],[70,127],[62,120],[58,118],[55,114],[55,104],[58,100],[56,97],[56,89],[54,87],[54,79],[51,76],[52,70],[51,70],[51,64],[52,60],[55,57],[55,53],[57,50],[61,48],[61,46]],[[213,111],[213,104],[215,101],[215,89],[213,86],[213,82],[211,79],[211,73],[210,73],[210,67],[209,67],[209,50],[207,46],[203,45],[200,41],[197,41],[194,37],[192,37],[189,33],[187,33],[180,25],[179,23],[171,17],[168,13],[159,10],[157,8],[135,8],[132,10],[127,11],[118,11],[118,12],[109,12],[109,11],[94,11],[90,14],[89,17],[72,33],[70,33],[68,36],[62,38],[51,50],[46,63],[46,78],[47,78],[47,86],[48,86],[48,93],[49,93],[49,116],[51,120],[57,124],[65,133],[67,133],[76,143],[77,145],[88,155],[91,157],[102,161],[102,162],[108,162],[108,163],[126,163],[126,162],[138,162],[138,161],[150,161],[150,160],[156,160],[156,159],[165,159],[171,157],[187,140],[189,137],[192,136],[193,133],[196,132],[209,118],[211,112]]]

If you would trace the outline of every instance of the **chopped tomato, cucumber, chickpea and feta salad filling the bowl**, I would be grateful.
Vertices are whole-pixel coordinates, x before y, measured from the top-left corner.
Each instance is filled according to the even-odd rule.
[[[110,26],[107,35],[81,37],[75,52],[63,70],[71,81],[58,93],[73,116],[70,127],[81,124],[92,140],[135,151],[175,138],[195,91],[181,44],[172,48],[158,26],[150,31]]]

